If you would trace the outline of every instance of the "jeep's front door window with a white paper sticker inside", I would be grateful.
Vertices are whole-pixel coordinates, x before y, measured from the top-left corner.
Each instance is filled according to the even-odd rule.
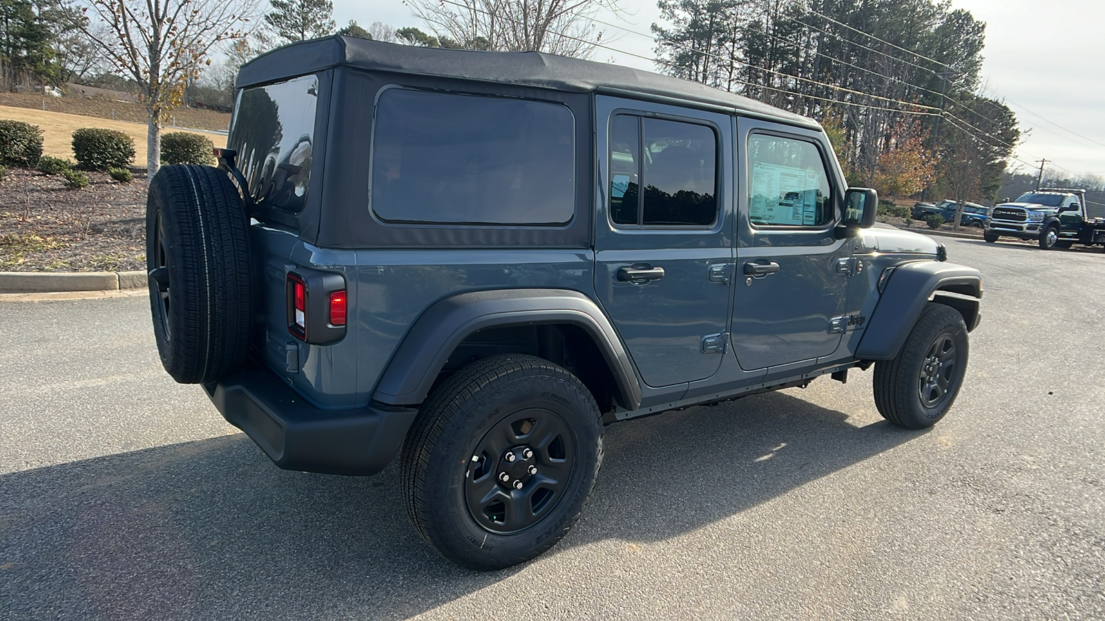
[[[829,175],[812,143],[754,134],[748,175],[753,224],[823,228],[834,220]]]

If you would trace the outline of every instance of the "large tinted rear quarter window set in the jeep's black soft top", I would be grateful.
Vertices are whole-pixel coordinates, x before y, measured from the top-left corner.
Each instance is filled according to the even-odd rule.
[[[391,222],[567,223],[573,136],[559,104],[389,88],[376,106],[372,210]]]

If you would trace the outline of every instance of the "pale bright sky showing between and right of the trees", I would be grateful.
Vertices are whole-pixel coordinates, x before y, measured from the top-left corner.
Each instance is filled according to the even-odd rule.
[[[648,34],[649,25],[659,21],[655,2],[623,0],[621,6],[627,12],[622,19],[609,14],[599,19],[625,30],[602,27],[603,40],[611,48],[651,57],[652,38],[634,32]],[[1105,23],[1105,2],[953,0],[953,6],[987,23],[982,52],[987,95],[1004,99],[1021,129],[1029,130],[1017,150],[1023,162],[1013,161],[1013,167],[1028,169],[1046,158],[1071,173],[1105,177],[1105,35],[1095,32]],[[339,25],[354,19],[366,28],[381,21],[429,30],[401,0],[336,0],[334,17]],[[598,50],[593,60],[655,71],[649,61],[608,50]]]

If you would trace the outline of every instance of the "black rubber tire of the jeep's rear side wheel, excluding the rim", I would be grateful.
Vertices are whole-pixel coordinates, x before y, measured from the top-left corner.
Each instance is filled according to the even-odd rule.
[[[548,513],[520,531],[499,534],[476,520],[466,485],[478,467],[473,453],[490,430],[524,411],[562,419],[575,461]],[[583,383],[548,360],[502,355],[470,364],[431,392],[407,435],[399,471],[407,513],[419,535],[457,565],[494,570],[525,562],[559,541],[579,517],[601,463],[601,419]],[[539,461],[536,465],[541,466]]]

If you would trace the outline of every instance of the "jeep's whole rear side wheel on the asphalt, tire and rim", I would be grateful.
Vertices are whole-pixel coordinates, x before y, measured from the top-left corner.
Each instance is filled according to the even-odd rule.
[[[400,476],[419,535],[457,565],[492,570],[559,541],[601,463],[601,418],[583,383],[548,360],[504,355],[434,389]]]

